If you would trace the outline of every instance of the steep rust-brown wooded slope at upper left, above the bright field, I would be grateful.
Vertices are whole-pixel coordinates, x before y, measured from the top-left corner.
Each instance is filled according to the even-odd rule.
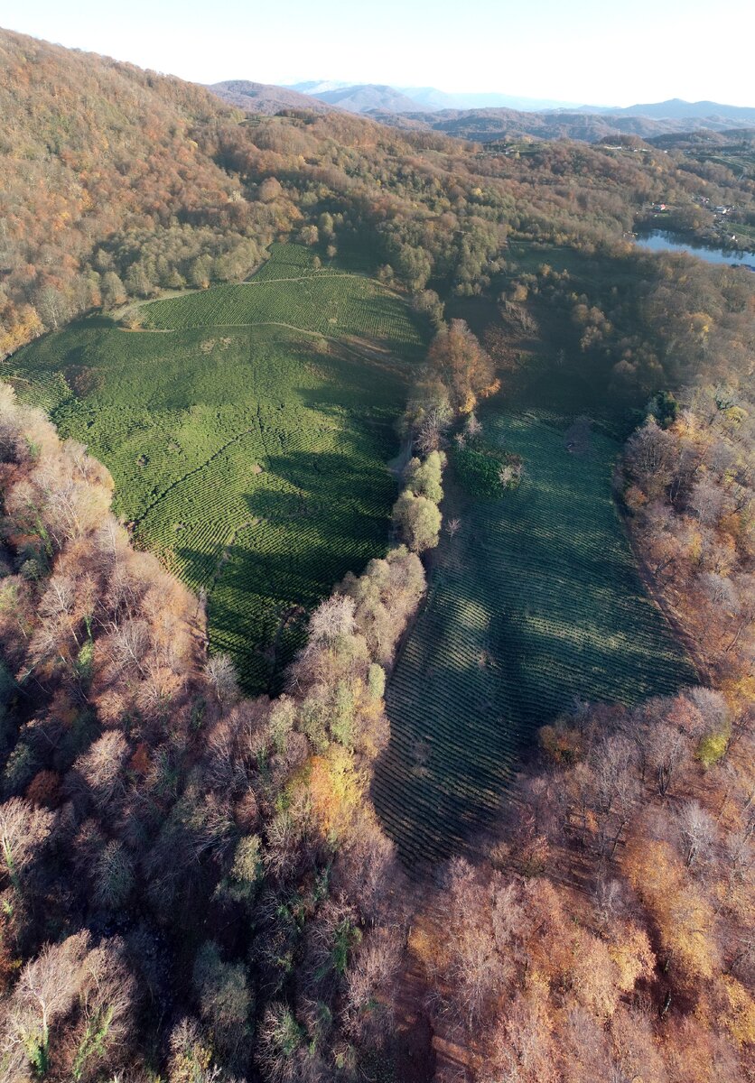
[[[243,218],[193,139],[232,116],[200,87],[1,30],[0,116],[0,356],[101,302],[114,234]]]

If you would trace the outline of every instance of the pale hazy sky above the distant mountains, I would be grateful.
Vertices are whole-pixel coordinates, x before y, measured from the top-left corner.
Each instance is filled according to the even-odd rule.
[[[2,0],[0,24],[197,82],[755,106],[753,0]]]

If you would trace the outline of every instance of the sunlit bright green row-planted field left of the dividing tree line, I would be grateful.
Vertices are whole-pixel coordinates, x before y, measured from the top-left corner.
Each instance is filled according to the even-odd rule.
[[[135,542],[207,591],[211,645],[250,692],[387,544],[385,464],[421,347],[395,293],[312,260],[275,245],[249,283],[141,305],[143,330],[95,316],[0,365],[107,465]]]

